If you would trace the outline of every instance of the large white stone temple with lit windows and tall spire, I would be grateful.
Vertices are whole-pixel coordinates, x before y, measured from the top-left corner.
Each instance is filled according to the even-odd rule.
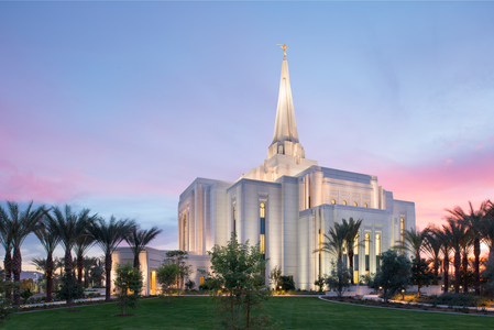
[[[266,283],[274,266],[293,276],[296,288],[314,289],[319,275],[330,273],[332,255],[315,253],[323,233],[342,219],[363,219],[354,255],[354,279],[375,273],[381,252],[415,228],[415,204],[396,200],[373,175],[339,170],[305,157],[295,120],[288,62],[282,63],[273,141],[264,162],[237,182],[196,178],[178,201],[178,250],[187,251],[190,278],[210,267],[208,251],[224,245],[235,232],[240,242],[260,243],[267,261]],[[356,244],[355,244],[356,245]],[[147,294],[156,289],[155,270],[165,251],[141,253]],[[130,249],[116,253],[118,262],[132,261]]]

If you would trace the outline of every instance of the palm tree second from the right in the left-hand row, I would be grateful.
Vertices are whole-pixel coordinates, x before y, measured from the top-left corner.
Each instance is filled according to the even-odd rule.
[[[107,279],[106,301],[110,301],[111,296],[111,255],[117,246],[131,233],[135,227],[134,221],[129,219],[117,220],[111,216],[110,221],[99,218],[91,223],[88,230],[96,240],[96,243],[105,253],[105,271]]]

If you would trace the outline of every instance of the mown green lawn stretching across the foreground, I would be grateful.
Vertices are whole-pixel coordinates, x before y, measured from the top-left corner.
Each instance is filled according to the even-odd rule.
[[[209,297],[173,297],[141,302],[133,317],[114,317],[114,304],[14,315],[4,329],[212,329]],[[322,301],[316,297],[273,297],[268,305],[282,329],[481,329],[494,318],[426,311],[394,310]]]

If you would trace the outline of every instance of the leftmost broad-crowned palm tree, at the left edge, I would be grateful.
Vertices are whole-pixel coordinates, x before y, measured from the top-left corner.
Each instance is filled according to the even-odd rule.
[[[9,215],[3,209],[0,210],[0,222],[2,222],[2,227],[10,228],[11,230],[13,249],[12,273],[14,282],[18,283],[21,282],[22,272],[21,245],[41,221],[44,209],[43,207],[34,209],[32,201],[22,212],[19,209],[19,205],[13,201],[7,201],[7,209],[9,210]],[[15,306],[21,305],[19,289],[14,292],[13,302]]]

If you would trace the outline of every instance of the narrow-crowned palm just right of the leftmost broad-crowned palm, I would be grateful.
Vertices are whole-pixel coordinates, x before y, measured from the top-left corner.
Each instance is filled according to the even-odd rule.
[[[54,263],[53,263],[53,252],[56,246],[61,242],[59,235],[57,235],[56,230],[50,226],[47,222],[47,217],[45,216],[44,221],[41,223],[40,228],[37,228],[34,233],[40,240],[41,244],[46,251],[45,261],[45,275],[46,275],[46,301],[52,301],[52,292],[53,292],[53,272],[54,272]],[[33,260],[34,263],[35,260]]]

